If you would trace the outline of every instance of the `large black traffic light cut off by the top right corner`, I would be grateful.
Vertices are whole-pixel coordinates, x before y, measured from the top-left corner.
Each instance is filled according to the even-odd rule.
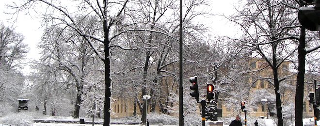
[[[306,3],[312,3],[314,0],[304,0]],[[315,7],[300,7],[298,11],[298,20],[307,30],[320,31],[320,0],[316,1]]]

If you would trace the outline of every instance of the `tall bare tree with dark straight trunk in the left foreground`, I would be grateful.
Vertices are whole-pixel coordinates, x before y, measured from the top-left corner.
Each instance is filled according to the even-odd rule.
[[[119,21],[119,16],[125,10],[128,0],[79,0],[79,1],[49,1],[49,0],[24,0],[22,3],[12,4],[9,7],[19,11],[29,11],[33,7],[46,6],[45,10],[37,10],[44,19],[44,23],[59,25],[61,27],[70,28],[84,40],[94,50],[96,55],[105,64],[105,99],[104,99],[104,125],[110,125],[110,97],[111,97],[111,76],[110,76],[110,49],[109,46],[112,41],[113,25]],[[68,5],[76,5],[68,6]],[[118,9],[120,8],[120,9]],[[78,10],[81,10],[78,12]],[[32,11],[34,11],[32,9]],[[77,23],[76,17],[85,15],[83,18],[88,18],[89,15],[96,16],[99,22],[100,34],[93,36],[87,34],[81,26]],[[91,16],[90,16],[91,17]],[[49,27],[48,27],[49,28]],[[97,44],[102,44],[103,48],[96,47]],[[104,55],[102,54],[104,53]]]

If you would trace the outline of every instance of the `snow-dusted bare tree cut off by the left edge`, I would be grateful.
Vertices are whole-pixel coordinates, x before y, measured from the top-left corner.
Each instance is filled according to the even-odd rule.
[[[19,71],[28,52],[24,37],[0,23],[0,97],[3,106],[13,103],[22,94],[24,76]]]

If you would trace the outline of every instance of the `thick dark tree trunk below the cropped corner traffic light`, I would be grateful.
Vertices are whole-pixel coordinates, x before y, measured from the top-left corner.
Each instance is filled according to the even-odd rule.
[[[305,72],[305,29],[300,27],[300,40],[298,46],[298,75],[295,96],[295,126],[303,126],[303,104],[304,104],[304,72]]]

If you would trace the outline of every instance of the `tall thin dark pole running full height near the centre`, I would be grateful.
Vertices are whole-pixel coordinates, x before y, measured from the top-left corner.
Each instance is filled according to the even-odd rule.
[[[179,29],[179,126],[183,126],[183,88],[182,88],[182,0],[180,0],[180,29]]]

